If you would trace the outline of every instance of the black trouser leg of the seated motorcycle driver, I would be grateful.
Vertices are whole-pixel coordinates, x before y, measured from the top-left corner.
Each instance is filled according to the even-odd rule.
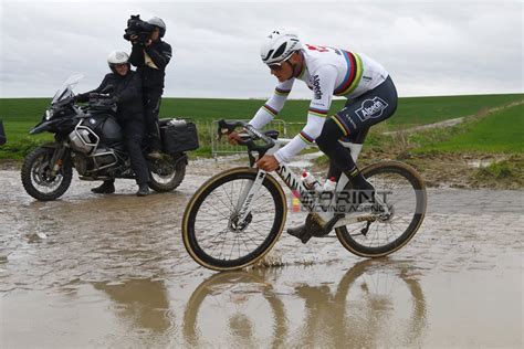
[[[127,120],[124,125],[124,138],[129,154],[133,171],[136,174],[138,186],[149,182],[149,169],[142,152],[142,141],[144,139],[145,125],[142,120]]]

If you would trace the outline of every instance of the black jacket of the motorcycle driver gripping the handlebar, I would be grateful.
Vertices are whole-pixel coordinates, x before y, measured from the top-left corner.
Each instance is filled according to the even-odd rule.
[[[105,92],[107,86],[114,86],[108,94],[116,99],[116,116],[119,121],[144,120],[144,105],[142,102],[142,82],[136,72],[128,71],[125,76],[109,73],[104,76],[101,85],[93,91],[78,95],[76,101],[85,102],[90,93]]]

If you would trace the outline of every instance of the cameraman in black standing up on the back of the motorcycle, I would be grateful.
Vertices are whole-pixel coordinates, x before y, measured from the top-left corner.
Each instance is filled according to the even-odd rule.
[[[146,138],[149,142],[148,156],[158,159],[161,158],[158,113],[164,93],[165,71],[171,59],[171,46],[161,40],[166,34],[166,23],[158,17],[154,17],[147,22],[154,25],[155,30],[146,43],[138,42],[136,35],[130,36],[133,49],[129,62],[137,67],[137,72],[142,76]]]

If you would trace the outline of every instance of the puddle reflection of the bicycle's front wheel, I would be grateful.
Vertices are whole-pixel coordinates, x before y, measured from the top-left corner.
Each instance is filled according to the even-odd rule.
[[[217,345],[219,336],[240,347],[281,346],[287,331],[284,304],[265,282],[268,273],[221,273],[201,283],[184,315],[187,343]]]

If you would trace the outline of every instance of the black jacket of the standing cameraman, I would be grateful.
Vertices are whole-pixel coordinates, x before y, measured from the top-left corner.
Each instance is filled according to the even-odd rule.
[[[146,53],[157,68],[146,64]],[[136,66],[136,71],[142,75],[144,89],[155,89],[160,93],[164,91],[165,71],[169,60],[171,60],[171,46],[160,39],[154,41],[149,46],[133,45],[129,56],[129,63]]]

